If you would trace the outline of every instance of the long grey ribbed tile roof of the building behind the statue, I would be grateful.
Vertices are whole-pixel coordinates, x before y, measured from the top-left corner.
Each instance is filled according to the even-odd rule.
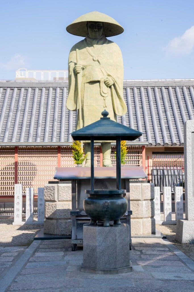
[[[137,141],[183,146],[194,79],[124,80],[123,93],[128,111],[118,122],[144,133]],[[66,108],[67,95],[67,81],[0,81],[0,144],[71,142],[76,112]]]

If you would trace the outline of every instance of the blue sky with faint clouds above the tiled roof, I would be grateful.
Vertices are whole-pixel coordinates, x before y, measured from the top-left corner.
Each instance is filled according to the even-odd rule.
[[[0,11],[0,80],[13,80],[21,67],[66,70],[71,47],[83,39],[66,27],[91,11],[124,27],[109,38],[121,48],[124,79],[194,78],[194,1],[7,0]]]

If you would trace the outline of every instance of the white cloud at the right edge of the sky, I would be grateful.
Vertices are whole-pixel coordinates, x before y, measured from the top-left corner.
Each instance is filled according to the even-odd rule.
[[[194,25],[187,29],[184,34],[169,41],[165,51],[179,55],[188,55],[194,48]]]

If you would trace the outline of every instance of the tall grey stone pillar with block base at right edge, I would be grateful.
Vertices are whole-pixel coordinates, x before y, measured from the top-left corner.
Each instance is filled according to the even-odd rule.
[[[176,240],[194,243],[194,121],[184,123],[185,216],[177,221]]]

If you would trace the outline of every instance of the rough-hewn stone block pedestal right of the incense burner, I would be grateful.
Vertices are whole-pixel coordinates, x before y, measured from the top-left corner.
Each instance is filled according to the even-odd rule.
[[[131,235],[155,234],[154,184],[130,182]]]

